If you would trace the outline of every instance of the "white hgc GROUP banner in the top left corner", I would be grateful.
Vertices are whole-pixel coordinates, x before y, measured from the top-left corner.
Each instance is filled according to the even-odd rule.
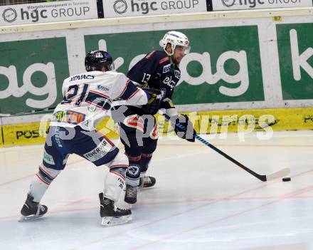
[[[96,0],[0,6],[0,26],[97,18]]]

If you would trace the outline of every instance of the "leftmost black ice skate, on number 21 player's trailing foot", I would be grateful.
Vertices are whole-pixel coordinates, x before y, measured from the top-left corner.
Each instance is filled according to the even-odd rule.
[[[29,221],[43,217],[46,214],[48,207],[41,205],[39,202],[33,202],[33,197],[31,194],[27,194],[27,199],[25,204],[21,209],[21,218],[19,222]]]

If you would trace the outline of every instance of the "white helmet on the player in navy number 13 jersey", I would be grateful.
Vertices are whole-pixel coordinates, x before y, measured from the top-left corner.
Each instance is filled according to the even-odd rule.
[[[167,43],[171,43],[171,53],[168,53],[166,51]],[[161,47],[164,49],[167,55],[171,56],[174,54],[174,49],[176,48],[176,46],[186,47],[185,54],[188,54],[190,51],[189,40],[187,36],[184,35],[184,33],[181,33],[179,31],[167,32],[161,41]]]

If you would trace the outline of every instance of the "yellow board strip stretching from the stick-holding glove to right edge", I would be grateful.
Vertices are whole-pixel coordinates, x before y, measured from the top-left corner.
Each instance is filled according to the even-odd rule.
[[[204,111],[198,117],[200,133],[313,129],[313,108]]]

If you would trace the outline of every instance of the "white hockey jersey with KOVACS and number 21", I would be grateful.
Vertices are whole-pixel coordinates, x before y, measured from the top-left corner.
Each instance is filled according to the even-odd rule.
[[[91,71],[70,76],[63,82],[63,101],[53,112],[52,126],[94,130],[107,114],[114,100],[144,105],[148,98],[123,73]]]

